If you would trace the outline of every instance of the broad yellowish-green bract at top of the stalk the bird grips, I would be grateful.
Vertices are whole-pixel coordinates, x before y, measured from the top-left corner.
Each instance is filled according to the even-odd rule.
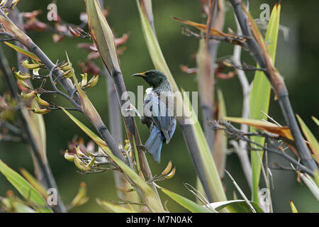
[[[106,68],[111,75],[120,72],[121,69],[118,62],[114,36],[101,11],[99,2],[97,0],[84,1],[86,4],[91,38],[94,40],[96,48],[99,50],[104,65],[106,65]]]

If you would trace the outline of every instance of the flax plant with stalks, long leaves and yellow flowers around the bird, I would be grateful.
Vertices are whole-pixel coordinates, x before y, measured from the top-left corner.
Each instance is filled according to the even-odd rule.
[[[79,77],[75,67],[72,66],[73,56],[67,55],[67,53],[66,60],[52,62],[45,52],[26,35],[26,31],[23,31],[23,21],[21,21],[21,18],[19,21],[18,10],[13,11],[13,7],[16,6],[18,1],[1,1],[0,41],[4,41],[9,48],[16,50],[18,60],[21,60],[21,62],[18,62],[18,70],[15,68],[11,70],[0,46],[0,70],[11,92],[10,95],[18,103],[18,108],[15,110],[18,112],[18,118],[21,121],[21,128],[16,128],[16,126],[10,124],[7,124],[6,127],[8,127],[8,130],[15,131],[16,134],[21,136],[22,140],[30,145],[30,151],[35,162],[35,175],[37,176],[37,179],[35,179],[26,170],[21,170],[20,175],[0,160],[1,174],[11,182],[23,197],[23,199],[19,199],[13,192],[8,192],[6,197],[0,196],[1,211],[66,212],[74,206],[85,204],[89,200],[86,184],[82,182],[76,196],[67,206],[62,203],[58,192],[57,206],[50,203],[50,199],[53,198],[54,200],[55,198],[48,195],[46,189],[57,189],[57,185],[46,157],[46,135],[42,115],[49,112],[52,114],[54,111],[62,111],[70,121],[91,139],[87,144],[84,144],[82,139],[72,140],[72,143],[69,143],[69,150],[65,151],[65,159],[72,162],[82,174],[113,172],[118,202],[103,201],[96,198],[96,204],[99,204],[101,208],[108,212],[169,212],[166,204],[162,203],[160,197],[162,194],[168,196],[169,199],[184,207],[184,209],[194,213],[273,212],[273,201],[267,207],[261,206],[258,197],[261,172],[267,184],[267,189],[270,189],[269,168],[271,167],[277,170],[296,172],[298,179],[306,184],[306,187],[316,199],[319,198],[317,165],[319,163],[319,143],[303,119],[297,115],[301,130],[307,140],[307,143],[305,143],[293,114],[284,80],[274,67],[281,4],[275,4],[269,21],[265,37],[266,40],[270,41],[269,45],[266,45],[264,37],[240,0],[230,0],[237,19],[237,34],[233,31],[223,32],[226,12],[223,0],[202,1],[202,9],[207,16],[205,24],[174,18],[176,21],[183,23],[184,35],[199,39],[195,71],[203,109],[203,122],[200,123],[189,96],[183,89],[179,88],[180,84],[175,82],[174,72],[172,73],[169,70],[169,65],[160,48],[161,40],[156,35],[156,18],[152,13],[152,1],[136,0],[142,33],[150,58],[154,67],[162,71],[172,84],[175,118],[181,128],[198,177],[196,187],[186,183],[184,186],[196,197],[195,202],[173,192],[174,190],[171,191],[171,189],[161,186],[161,181],[174,177],[177,171],[177,167],[173,166],[174,160],[169,161],[167,167],[159,175],[152,174],[145,155],[145,146],[142,145],[133,114],[130,114],[135,111],[135,107],[130,104],[118,60],[116,38],[114,38],[111,25],[108,24],[106,16],[103,14],[103,1],[84,1],[87,16],[87,21],[83,23],[84,26],[77,28],[69,26],[68,31],[62,32],[60,35],[63,37],[90,38],[93,41],[94,46],[89,43],[89,49],[94,51],[95,56],[103,62],[103,70],[100,71],[105,76],[107,84],[110,131],[108,131],[108,127],[103,123],[100,114],[89,99],[88,91],[99,82],[99,75],[94,74],[89,79],[88,73],[83,72],[80,74],[82,79],[78,80]],[[9,15],[7,12],[9,12]],[[33,13],[36,14],[36,12]],[[89,32],[84,31],[86,25]],[[197,28],[200,33],[195,33],[184,25]],[[13,41],[16,45],[13,45]],[[223,57],[220,60],[216,59],[216,56],[218,45],[222,41],[228,43],[228,45],[235,45],[235,48],[232,57]],[[257,67],[241,62],[240,52],[242,49],[250,52],[257,63]],[[216,78],[221,78],[221,70],[224,67],[233,67],[238,74],[243,92],[242,118],[227,116],[223,93],[215,87]],[[41,73],[39,73],[39,70],[41,70]],[[255,71],[252,85],[247,80],[245,70]],[[46,71],[47,74],[43,74],[43,71]],[[229,73],[227,79],[233,77],[235,71]],[[33,79],[40,81],[40,86],[33,87],[30,83]],[[52,90],[47,88],[47,83]],[[271,88],[279,101],[288,126],[279,125],[267,115]],[[21,95],[18,95],[19,89]],[[216,98],[215,93],[217,94]],[[71,107],[46,101],[41,96],[42,94],[52,95],[53,97],[62,96]],[[0,99],[0,101],[3,100]],[[11,105],[14,106],[13,104],[15,104],[14,101]],[[86,116],[91,125],[94,126],[96,133],[99,134],[94,133],[82,121],[79,121],[72,114],[72,111],[77,111]],[[263,115],[274,123],[262,121]],[[122,132],[122,120],[125,126],[125,137]],[[319,125],[316,118],[313,117],[313,121]],[[230,122],[240,123],[242,126],[237,129]],[[248,130],[249,127],[250,131]],[[18,136],[12,138],[21,140]],[[242,182],[237,182],[230,172],[225,170],[228,138],[237,150],[245,177],[252,189],[251,200],[240,188]],[[265,143],[266,140],[281,141],[281,144],[267,144]],[[290,148],[300,157],[301,162],[286,153],[284,151],[286,148],[283,148],[282,144],[287,145],[287,148]],[[247,156],[247,150],[251,151],[251,164]],[[262,154],[265,151],[267,153],[263,158]],[[291,166],[269,165],[268,153],[283,157],[289,161]],[[263,159],[265,159],[265,163]],[[233,182],[242,199],[237,199],[237,196],[234,196],[233,200],[226,198],[222,183],[222,179],[225,177],[229,177],[230,181]],[[290,206],[294,213],[298,212],[293,201],[290,201]]]

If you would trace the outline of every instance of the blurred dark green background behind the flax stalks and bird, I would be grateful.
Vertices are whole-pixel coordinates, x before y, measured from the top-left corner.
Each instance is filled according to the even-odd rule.
[[[226,2],[226,20],[224,31],[232,28],[236,31],[233,9],[228,1]],[[311,3],[310,3],[311,2]],[[18,4],[20,11],[33,11],[41,9],[43,14],[39,16],[41,21],[47,21],[47,4],[51,1],[21,1]],[[271,6],[274,1],[250,1],[250,12],[254,18],[259,18],[262,10],[259,6],[267,3]],[[85,11],[84,1],[56,1],[57,11],[64,21],[79,24],[79,13]],[[109,6],[110,13],[108,23],[113,28],[116,37],[123,33],[130,33],[130,38],[125,47],[127,48],[123,55],[120,56],[121,69],[123,71],[125,84],[128,91],[136,92],[138,85],[146,85],[140,79],[130,77],[135,72],[143,72],[153,68],[152,61],[147,52],[147,48],[142,36],[140,27],[140,18],[135,1],[113,0],[105,1]],[[318,21],[318,1],[283,1],[281,10],[281,25],[289,28],[289,40],[284,40],[283,33],[279,32],[279,43],[277,45],[276,67],[284,76],[286,85],[289,89],[291,104],[296,113],[298,113],[309,128],[318,138],[318,127],[311,120],[310,116],[316,116],[319,113],[318,108],[318,60],[319,60],[319,28],[315,24]],[[172,16],[189,19],[191,21],[203,22],[201,5],[199,1],[182,1],[182,0],[155,0],[153,1],[153,11],[155,17],[155,29],[157,38],[161,45],[164,57],[174,74],[174,78],[186,91],[196,91],[197,83],[195,74],[185,74],[179,70],[180,64],[195,67],[196,62],[191,57],[198,49],[198,40],[187,38],[181,35],[180,24],[172,20]],[[79,65],[86,58],[86,52],[76,48],[77,43],[85,43],[87,40],[77,38],[65,38],[61,43],[52,42],[52,33],[32,32],[29,33],[36,44],[50,57],[52,62],[57,59],[65,59],[65,51],[68,52],[74,65]],[[10,66],[16,66],[16,53],[5,47],[6,55],[9,59]],[[218,57],[233,54],[233,46],[228,43],[221,43],[218,49]],[[248,52],[243,52],[242,60],[253,64]],[[102,65],[100,60],[96,64]],[[77,67],[76,72],[81,72]],[[247,72],[247,77],[252,80],[253,73]],[[228,80],[216,81],[216,88],[222,90],[225,97],[228,116],[240,116],[242,107],[242,90],[237,77]],[[0,94],[6,91],[3,81],[0,81]],[[99,84],[94,89],[88,90],[96,109],[101,114],[103,121],[108,125],[108,104],[106,94],[106,81],[100,78]],[[273,95],[273,94],[272,94]],[[59,98],[60,99],[60,98]],[[63,99],[60,99],[65,104]],[[86,126],[89,122],[81,114],[75,114]],[[201,119],[201,111],[198,113]],[[279,104],[272,99],[270,105],[270,116],[281,124],[284,123],[283,116],[279,109]],[[95,175],[80,175],[76,167],[64,159],[62,153],[67,149],[67,142],[72,140],[74,135],[84,137],[86,142],[89,139],[72,123],[61,111],[51,112],[44,116],[47,131],[47,157],[55,175],[57,185],[62,194],[65,204],[72,201],[77,193],[79,183],[86,182],[90,200],[84,206],[72,209],[74,212],[100,212],[103,211],[95,199],[116,199],[116,191],[111,172],[103,172]],[[149,131],[142,126],[138,120],[140,135],[142,141],[147,140]],[[90,126],[90,128],[92,128]],[[93,129],[93,128],[92,128]],[[177,128],[174,138],[169,145],[164,145],[162,150],[162,161],[157,164],[147,155],[153,174],[159,174],[166,167],[167,162],[172,160],[173,165],[177,167],[176,175],[173,179],[159,182],[159,185],[171,189],[174,192],[182,194],[190,199],[194,196],[184,187],[184,182],[196,184],[196,172],[191,162],[190,155],[181,135],[180,128]],[[32,160],[26,145],[21,143],[4,143],[0,142],[0,159],[4,160],[14,170],[26,168],[33,172]],[[289,165],[281,157],[270,155],[269,162],[280,162]],[[245,194],[250,197],[250,189],[242,173],[242,167],[235,153],[227,157],[226,169],[233,175],[237,184],[243,189]],[[318,212],[319,205],[315,197],[308,191],[305,185],[296,181],[296,173],[272,170],[274,179],[274,189],[272,189],[272,199],[275,212],[290,212],[289,199],[293,200],[298,211],[301,212]],[[233,192],[236,191],[228,177],[223,179],[228,199],[233,199]],[[261,182],[261,188],[264,182]],[[0,175],[0,195],[4,196],[8,189],[13,189],[11,184]],[[237,192],[236,192],[237,193]],[[238,193],[237,193],[238,194]],[[177,205],[174,201],[161,194],[162,201],[167,200],[169,211],[181,212],[186,211]]]

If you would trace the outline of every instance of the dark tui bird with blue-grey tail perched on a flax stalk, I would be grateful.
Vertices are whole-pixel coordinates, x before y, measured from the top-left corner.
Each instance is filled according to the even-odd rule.
[[[176,128],[172,84],[159,70],[133,74],[132,77],[142,77],[151,86],[145,91],[142,123],[150,129],[145,148],[156,162],[160,162],[162,144],[169,143]]]

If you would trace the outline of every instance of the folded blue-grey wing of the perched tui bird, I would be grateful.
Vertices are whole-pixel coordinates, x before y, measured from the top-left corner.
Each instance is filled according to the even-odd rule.
[[[163,133],[166,143],[169,143],[176,128],[174,116],[158,96],[150,95],[146,105],[149,108],[153,123]]]

